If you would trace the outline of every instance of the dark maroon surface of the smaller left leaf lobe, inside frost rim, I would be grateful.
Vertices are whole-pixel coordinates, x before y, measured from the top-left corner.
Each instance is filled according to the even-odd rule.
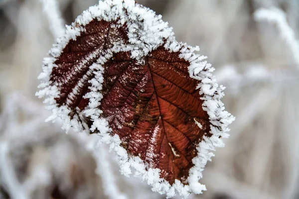
[[[71,116],[77,112],[76,107],[82,110],[88,104],[83,96],[90,86],[88,80],[94,77],[90,72],[91,65],[112,47],[113,41],[128,41],[126,26],[116,28],[113,25],[114,22],[104,20],[91,21],[85,26],[86,31],[76,40],[71,40],[54,62],[57,67],[53,68],[50,81],[58,83],[61,88],[56,102],[67,104],[73,110]],[[80,80],[82,85],[78,86]]]

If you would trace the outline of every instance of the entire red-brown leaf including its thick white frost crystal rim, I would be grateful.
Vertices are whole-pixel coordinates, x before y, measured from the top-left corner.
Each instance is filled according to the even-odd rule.
[[[43,88],[64,128],[98,133],[124,175],[142,176],[167,197],[201,193],[209,150],[223,146],[234,119],[198,47],[134,0],[104,0],[84,11],[44,59]]]

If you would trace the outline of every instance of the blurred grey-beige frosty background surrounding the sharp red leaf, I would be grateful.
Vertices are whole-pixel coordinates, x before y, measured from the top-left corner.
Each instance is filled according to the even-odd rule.
[[[137,1],[200,46],[236,116],[203,172],[208,191],[190,199],[299,199],[299,0]],[[45,123],[34,96],[60,24],[96,3],[0,0],[0,199],[165,198],[121,176],[94,136]]]

